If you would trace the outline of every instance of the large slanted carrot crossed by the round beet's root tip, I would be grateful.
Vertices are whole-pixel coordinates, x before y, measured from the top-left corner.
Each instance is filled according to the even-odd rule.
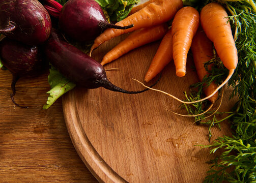
[[[122,34],[135,31],[139,28],[151,27],[157,24],[164,23],[174,17],[179,9],[183,7],[182,0],[155,0],[148,4],[141,10],[126,17],[125,19],[117,22],[117,25],[130,25],[134,26],[126,30],[109,28],[106,29],[100,36],[98,36],[90,50],[97,48],[100,44],[120,36]]]

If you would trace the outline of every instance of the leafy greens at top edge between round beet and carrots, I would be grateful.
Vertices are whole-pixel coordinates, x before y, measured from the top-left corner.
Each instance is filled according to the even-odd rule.
[[[95,0],[109,16],[111,22],[124,19],[131,11],[132,7],[140,0]]]

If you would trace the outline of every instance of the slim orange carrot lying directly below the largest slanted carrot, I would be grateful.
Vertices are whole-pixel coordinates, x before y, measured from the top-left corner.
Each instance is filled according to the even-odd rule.
[[[167,31],[168,25],[166,23],[138,29],[137,31],[132,32],[126,39],[121,41],[109,52],[107,52],[100,64],[103,66],[131,51],[132,49],[157,41],[161,39]]]

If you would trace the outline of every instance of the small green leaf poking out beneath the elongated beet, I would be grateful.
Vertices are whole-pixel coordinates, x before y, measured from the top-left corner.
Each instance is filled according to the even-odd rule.
[[[48,82],[51,89],[46,93],[49,96],[43,109],[48,109],[58,98],[75,87],[75,83],[69,81],[52,66],[48,76]]]

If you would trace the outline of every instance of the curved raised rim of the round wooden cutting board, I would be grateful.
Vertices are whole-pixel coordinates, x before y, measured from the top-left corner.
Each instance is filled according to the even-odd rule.
[[[76,104],[72,102],[74,99],[75,94],[73,91],[70,91],[69,95],[63,96],[63,100],[65,101],[63,102],[63,112],[66,126],[73,144],[81,144],[79,146],[75,145],[75,149],[79,157],[100,182],[104,182],[102,177],[104,177],[104,179],[107,178],[108,181],[112,182],[127,182],[101,158],[101,156],[97,153],[96,149],[91,144],[86,133],[84,133],[79,116],[77,116],[78,113],[75,107]],[[73,108],[70,106],[73,106]],[[70,122],[67,123],[67,121]],[[71,133],[71,131],[75,133]]]

